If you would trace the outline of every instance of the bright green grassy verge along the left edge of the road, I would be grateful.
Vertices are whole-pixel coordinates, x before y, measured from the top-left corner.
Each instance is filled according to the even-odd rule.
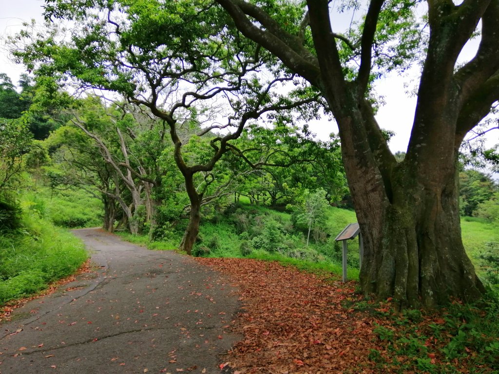
[[[87,257],[74,235],[37,214],[22,213],[19,227],[0,232],[0,305],[74,273]]]

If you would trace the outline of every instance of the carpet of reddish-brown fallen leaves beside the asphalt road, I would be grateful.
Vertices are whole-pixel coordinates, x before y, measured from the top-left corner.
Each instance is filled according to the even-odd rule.
[[[244,336],[221,365],[235,374],[377,373],[368,359],[375,324],[344,307],[359,299],[354,282],[343,284],[284,267],[238,258],[198,258],[240,287],[242,312],[234,332]]]

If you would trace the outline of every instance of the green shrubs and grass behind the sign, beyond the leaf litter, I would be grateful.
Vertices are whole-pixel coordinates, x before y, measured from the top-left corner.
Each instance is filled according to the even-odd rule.
[[[329,207],[327,221],[306,245],[306,230],[292,224],[289,212],[263,206],[236,205],[224,214],[205,219],[195,256],[248,257],[278,261],[312,273],[341,274],[341,243],[336,235],[355,222],[350,210]],[[358,279],[358,239],[348,243],[348,278]]]

